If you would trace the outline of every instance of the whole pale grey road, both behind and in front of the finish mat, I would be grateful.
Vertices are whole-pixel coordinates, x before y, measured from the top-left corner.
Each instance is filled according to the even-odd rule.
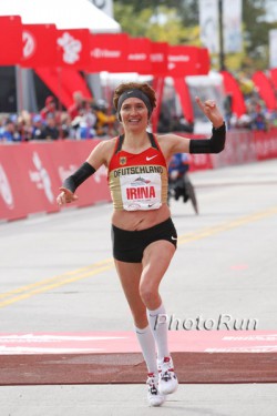
[[[276,160],[191,179],[199,215],[189,202],[171,206],[178,250],[161,285],[167,314],[187,325],[229,316],[220,329],[277,329]],[[132,331],[111,256],[111,211],[65,209],[0,224],[0,333]],[[141,399],[145,387],[1,387],[1,416],[153,413]],[[276,393],[269,384],[181,386],[157,412],[274,416]]]

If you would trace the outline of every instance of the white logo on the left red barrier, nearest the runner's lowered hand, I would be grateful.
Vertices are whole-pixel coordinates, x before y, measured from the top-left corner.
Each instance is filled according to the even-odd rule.
[[[29,171],[30,180],[35,183],[38,190],[43,190],[48,201],[53,204],[54,195],[52,192],[51,179],[48,171],[43,168],[40,156],[37,152],[33,152],[32,161],[37,171]]]

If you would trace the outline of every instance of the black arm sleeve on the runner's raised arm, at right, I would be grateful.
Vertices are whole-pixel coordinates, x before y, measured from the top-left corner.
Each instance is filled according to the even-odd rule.
[[[224,150],[226,139],[225,123],[218,129],[213,128],[211,139],[193,139],[189,142],[189,153],[219,153]]]

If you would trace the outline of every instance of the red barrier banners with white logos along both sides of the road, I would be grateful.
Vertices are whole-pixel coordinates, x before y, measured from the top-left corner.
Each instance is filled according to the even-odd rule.
[[[188,135],[188,133],[183,133]],[[197,139],[197,136],[192,135]],[[94,140],[31,141],[0,146],[0,220],[18,220],[34,213],[58,212],[55,196],[62,181],[73,173],[100,142]],[[219,154],[189,154],[189,171],[277,158],[277,128],[269,131],[228,132]],[[102,166],[78,190],[79,200],[70,206],[110,202],[106,169]],[[66,207],[65,207],[66,210]]]

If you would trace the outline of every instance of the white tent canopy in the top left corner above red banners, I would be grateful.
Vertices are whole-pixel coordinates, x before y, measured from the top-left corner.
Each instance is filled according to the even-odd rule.
[[[58,29],[121,31],[120,24],[90,0],[4,0],[0,1],[0,16],[21,16],[24,24],[54,23]]]

